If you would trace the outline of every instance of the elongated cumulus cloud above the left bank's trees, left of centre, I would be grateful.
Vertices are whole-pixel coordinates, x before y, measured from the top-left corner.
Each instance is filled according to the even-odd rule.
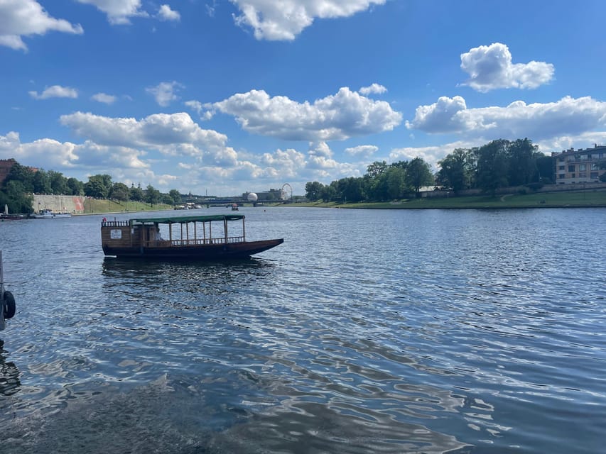
[[[106,146],[153,149],[168,156],[190,156],[217,165],[233,165],[237,153],[227,136],[202,129],[185,112],[135,118],[112,118],[76,112],[60,122],[87,140]]]

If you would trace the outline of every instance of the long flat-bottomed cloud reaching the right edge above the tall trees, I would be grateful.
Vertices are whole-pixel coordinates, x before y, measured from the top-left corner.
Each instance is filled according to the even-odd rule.
[[[406,128],[426,133],[460,133],[492,138],[578,135],[606,126],[606,102],[590,96],[565,96],[551,103],[514,101],[506,107],[467,109],[465,99],[441,97],[430,106],[418,106]]]

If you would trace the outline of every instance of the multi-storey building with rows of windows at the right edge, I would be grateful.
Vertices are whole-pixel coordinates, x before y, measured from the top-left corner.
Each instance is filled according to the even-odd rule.
[[[606,173],[606,146],[551,153],[557,184],[599,182]]]

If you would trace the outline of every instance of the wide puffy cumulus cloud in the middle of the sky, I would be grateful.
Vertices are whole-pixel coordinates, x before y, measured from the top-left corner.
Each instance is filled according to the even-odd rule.
[[[298,103],[252,90],[205,108],[233,115],[244,130],[286,140],[342,140],[391,131],[402,115],[385,101],[374,101],[343,87],[332,96]]]

